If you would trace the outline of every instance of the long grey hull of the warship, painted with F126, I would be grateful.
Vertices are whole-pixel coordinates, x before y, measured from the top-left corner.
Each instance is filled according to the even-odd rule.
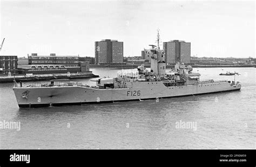
[[[14,87],[18,106],[22,108],[84,105],[178,96],[239,91],[241,85],[213,82],[199,85],[166,87],[161,81],[132,82],[132,88],[97,89],[84,86]]]

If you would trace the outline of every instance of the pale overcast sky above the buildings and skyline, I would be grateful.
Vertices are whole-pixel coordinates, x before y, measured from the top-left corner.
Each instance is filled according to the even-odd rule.
[[[255,58],[254,1],[0,0],[0,15],[2,55],[95,57],[95,41],[114,39],[139,56],[159,29],[161,42],[190,42],[191,56]]]

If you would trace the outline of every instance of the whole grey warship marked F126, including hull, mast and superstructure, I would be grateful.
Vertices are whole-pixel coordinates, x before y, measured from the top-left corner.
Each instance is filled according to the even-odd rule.
[[[239,91],[240,82],[213,79],[200,81],[200,74],[193,73],[190,65],[176,62],[171,70],[166,70],[164,52],[158,46],[144,49],[151,58],[151,68],[142,64],[136,72],[118,73],[116,78],[99,78],[96,86],[82,82],[66,82],[45,85],[17,86],[14,93],[19,107],[44,107],[61,105],[85,105],[87,103],[117,102],[172,98],[226,91]]]

